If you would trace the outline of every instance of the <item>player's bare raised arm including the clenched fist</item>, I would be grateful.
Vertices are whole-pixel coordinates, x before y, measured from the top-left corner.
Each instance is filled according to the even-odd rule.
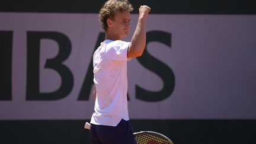
[[[139,57],[142,55],[146,46],[146,18],[151,11],[146,5],[139,8],[139,19],[135,33],[133,34],[132,41],[128,47],[127,57]]]

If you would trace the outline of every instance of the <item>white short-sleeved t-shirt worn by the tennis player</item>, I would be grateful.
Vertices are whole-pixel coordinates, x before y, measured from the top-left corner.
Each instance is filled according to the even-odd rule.
[[[97,97],[91,123],[117,126],[129,120],[127,108],[127,49],[129,42],[105,40],[93,55]]]

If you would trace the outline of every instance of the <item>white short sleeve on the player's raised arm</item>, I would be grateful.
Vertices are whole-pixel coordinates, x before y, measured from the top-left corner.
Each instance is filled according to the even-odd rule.
[[[130,42],[126,41],[113,41],[108,44],[105,53],[109,60],[127,61],[127,50]]]

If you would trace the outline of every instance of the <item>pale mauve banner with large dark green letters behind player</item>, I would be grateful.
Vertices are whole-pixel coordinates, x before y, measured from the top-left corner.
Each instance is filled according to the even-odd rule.
[[[1,12],[0,21],[4,54],[12,49],[0,120],[90,119],[98,15]],[[256,119],[255,15],[152,14],[147,31],[143,57],[127,63],[130,119]]]

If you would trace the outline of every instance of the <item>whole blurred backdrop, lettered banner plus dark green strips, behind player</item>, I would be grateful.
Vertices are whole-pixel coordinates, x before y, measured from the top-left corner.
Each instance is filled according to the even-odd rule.
[[[2,1],[0,143],[91,143],[92,54],[105,1]],[[127,62],[134,132],[174,143],[255,143],[256,2],[130,1],[152,8]]]

